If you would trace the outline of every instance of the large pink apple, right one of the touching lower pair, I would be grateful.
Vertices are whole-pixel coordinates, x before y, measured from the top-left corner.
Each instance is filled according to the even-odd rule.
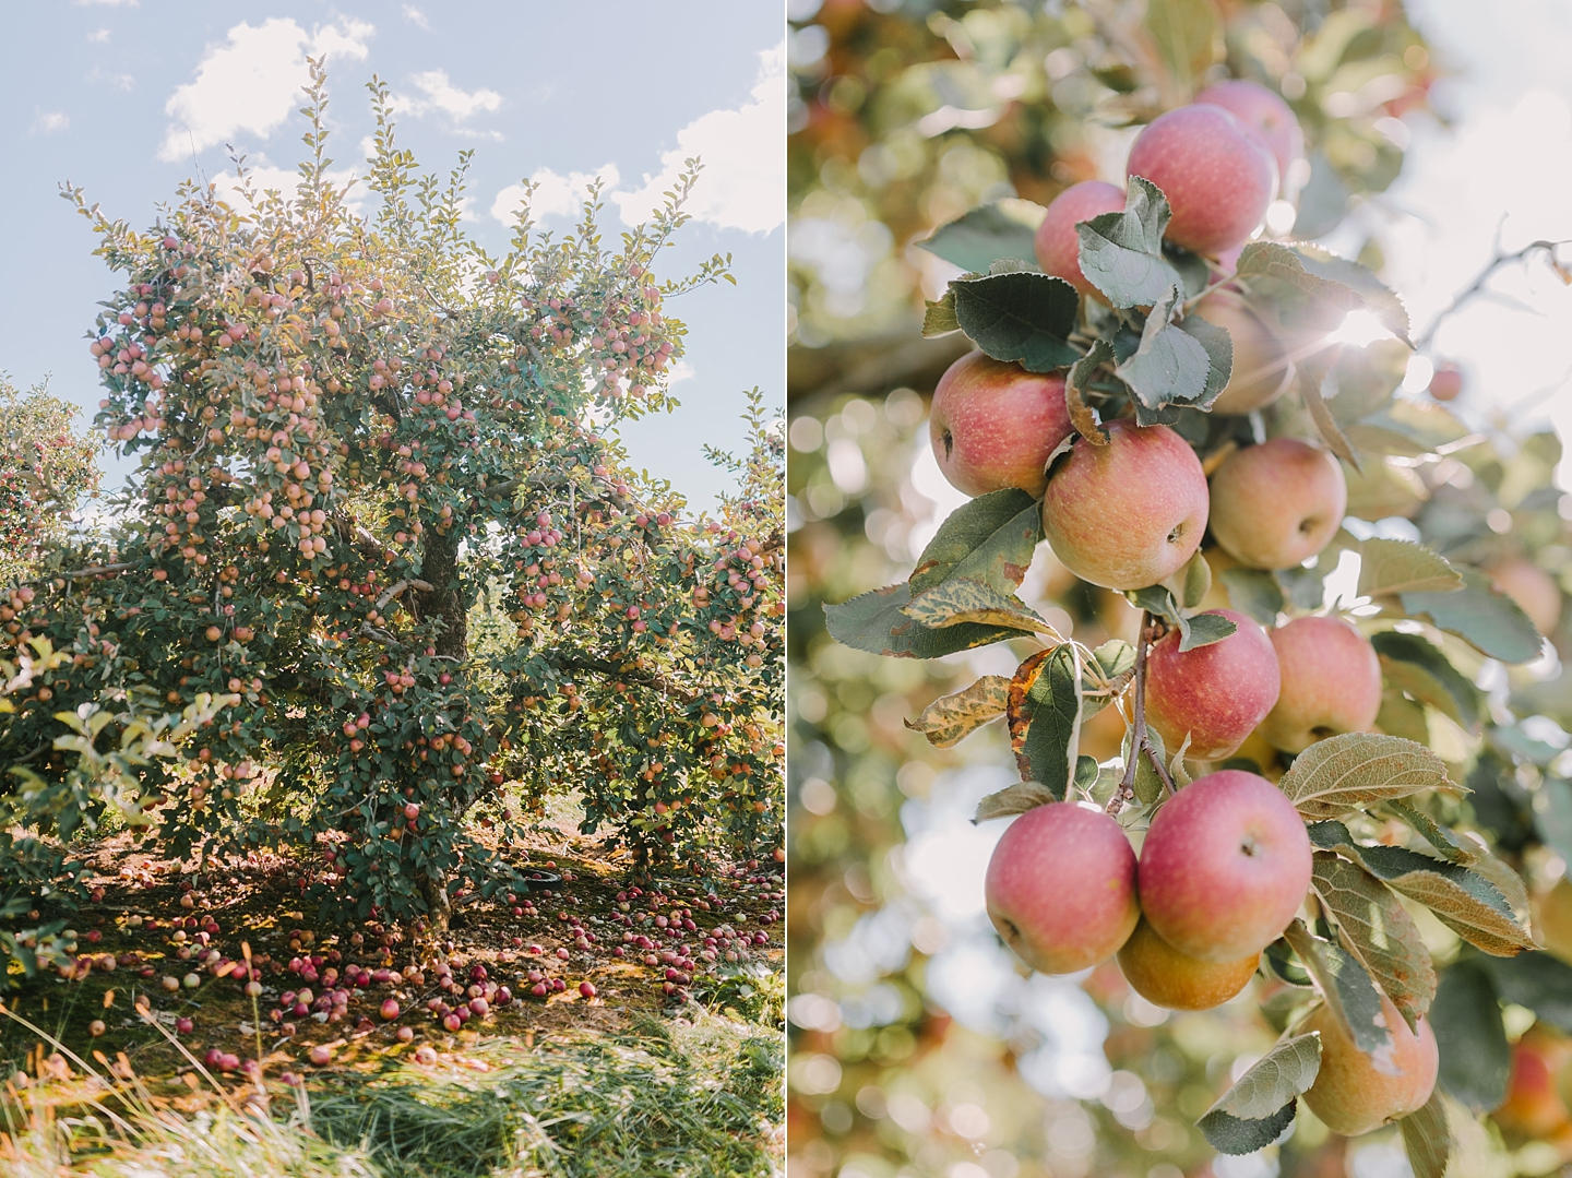
[[[1190,958],[1239,961],[1276,941],[1305,901],[1311,849],[1281,790],[1223,769],[1157,808],[1141,843],[1141,911]]]

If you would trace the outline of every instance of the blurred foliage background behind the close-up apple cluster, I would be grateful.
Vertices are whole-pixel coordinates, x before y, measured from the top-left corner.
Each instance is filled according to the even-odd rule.
[[[904,720],[978,675],[1009,675],[1027,648],[882,659],[832,642],[822,606],[904,579],[964,502],[932,461],[926,415],[934,382],[967,343],[920,337],[923,299],[959,271],[915,241],[979,203],[1047,204],[1082,179],[1118,182],[1140,126],[1218,77],[1259,80],[1292,104],[1311,162],[1292,233],[1324,236],[1398,176],[1402,116],[1434,115],[1431,49],[1391,2],[789,0],[788,9],[789,1178],[1407,1175],[1396,1134],[1349,1143],[1303,1109],[1281,1147],[1247,1158],[1206,1147],[1195,1118],[1276,1035],[1259,980],[1215,1011],[1171,1014],[1132,994],[1111,963],[1086,978],[1023,977],[982,912],[997,832],[968,821],[982,794],[1014,777],[1008,741],[992,725],[937,750]],[[1154,28],[1190,36],[1176,44]],[[1380,269],[1380,242],[1358,256]],[[1391,368],[1396,384],[1405,349],[1372,344],[1350,362]],[[1423,365],[1407,393],[1427,379]],[[1541,936],[1572,959],[1572,689],[1559,675],[1572,651],[1563,610],[1572,499],[1550,481],[1559,445],[1501,420],[1445,422],[1454,447],[1443,462],[1418,467],[1388,451],[1350,484],[1349,513],[1369,521],[1368,533],[1423,538],[1490,568],[1553,634],[1555,651],[1511,672],[1460,642],[1446,648],[1482,692],[1471,723],[1399,703],[1468,780],[1475,823],[1530,878]],[[1022,596],[1091,645],[1133,637],[1135,610],[1075,580],[1047,546]],[[1099,760],[1118,755],[1122,728],[1115,709],[1102,716],[1082,749]],[[1558,1066],[1572,1054],[1563,1040],[1572,1000],[1559,1030],[1533,1025],[1525,1007],[1492,1000],[1481,970],[1457,966],[1451,933],[1423,926],[1438,963],[1454,966],[1443,994],[1464,996],[1460,1038],[1443,1052],[1454,1101],[1500,1103],[1512,1066],[1501,1051],[1548,1044],[1537,1054]],[[1501,1011],[1493,1027],[1492,1011]],[[1552,1068],[1548,1095],[1517,1120],[1515,1107],[1486,1126],[1454,1117],[1453,1172],[1561,1169],[1572,1158],[1572,1091],[1555,1082]]]

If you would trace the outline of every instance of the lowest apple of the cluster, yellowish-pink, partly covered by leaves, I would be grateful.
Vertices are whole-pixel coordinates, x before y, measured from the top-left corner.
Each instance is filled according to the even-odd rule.
[[[1440,1057],[1435,1032],[1421,1016],[1415,1030],[1385,994],[1382,1019],[1391,1044],[1366,1055],[1353,1044],[1347,1027],[1327,1005],[1316,1007],[1300,1032],[1320,1032],[1320,1071],[1305,1093],[1305,1104],[1327,1128],[1344,1137],[1358,1137],[1418,1112],[1435,1090]]]

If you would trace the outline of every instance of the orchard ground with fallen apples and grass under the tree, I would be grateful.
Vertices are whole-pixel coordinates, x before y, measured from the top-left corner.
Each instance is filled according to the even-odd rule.
[[[533,901],[538,915],[514,915],[506,896],[461,903],[443,939],[387,944],[390,937],[369,925],[314,928],[299,900],[299,867],[289,860],[231,863],[198,876],[143,852],[126,835],[80,851],[97,873],[91,884],[102,900],[72,915],[79,950],[97,963],[108,955],[118,961],[71,981],[41,974],[5,997],[5,1178],[718,1176],[767,1175],[783,1165],[783,947],[775,923],[781,879],[778,868],[766,870],[773,863],[751,871],[737,865],[707,881],[657,873],[637,884],[643,895],[635,896],[629,860],[572,834],[567,821],[542,823],[530,845],[509,852],[519,867],[563,876],[519,896],[519,906]],[[185,885],[190,907],[181,903]],[[662,904],[651,903],[652,892]],[[692,911],[696,928],[667,937],[657,915],[670,925],[676,909]],[[143,926],[134,928],[129,922],[138,915]],[[195,942],[196,930],[184,930],[187,948],[217,950],[203,964],[195,955],[178,956],[174,920],[190,917],[219,926],[206,947]],[[569,917],[594,937],[588,948],[569,931]],[[681,970],[668,994],[671,964],[648,964],[645,950],[623,942],[624,930],[649,936],[656,953],[668,947],[696,959],[696,967]],[[739,959],[728,963],[723,930],[739,941],[762,933],[767,944],[734,941]],[[355,934],[358,945],[351,944]],[[706,936],[720,942],[714,963],[700,956]],[[255,1002],[233,975],[214,975],[225,974],[222,959],[242,959],[242,942],[253,961],[266,958]],[[341,972],[352,964],[390,967],[393,978],[369,986],[341,978],[351,997],[338,1018],[280,1011],[275,1019],[280,996],[310,985],[291,961],[333,952]],[[514,999],[456,1033],[445,1030],[426,1007],[432,997],[457,1005],[437,986],[439,961],[464,983],[483,966]],[[423,981],[401,977],[406,966],[420,969]],[[531,969],[564,988],[534,997]],[[163,988],[165,977],[189,972],[200,985]],[[580,994],[583,981],[594,997]],[[314,996],[324,989],[321,981],[310,988]],[[399,1003],[391,1021],[380,1016],[387,999]],[[179,1033],[176,1021],[187,1018],[192,1029]],[[399,1041],[401,1027],[413,1032],[412,1041]],[[310,1063],[319,1046],[332,1054],[325,1066]],[[435,1060],[421,1052],[428,1062],[420,1062],[423,1047]],[[239,1066],[204,1065],[211,1051],[233,1055]],[[263,1106],[266,1125],[258,1120]]]

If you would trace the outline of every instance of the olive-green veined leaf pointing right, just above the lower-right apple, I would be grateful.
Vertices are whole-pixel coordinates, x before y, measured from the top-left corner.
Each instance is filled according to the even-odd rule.
[[[1305,818],[1336,818],[1371,802],[1451,785],[1446,763],[1423,744],[1377,733],[1316,741],[1278,782]]]

